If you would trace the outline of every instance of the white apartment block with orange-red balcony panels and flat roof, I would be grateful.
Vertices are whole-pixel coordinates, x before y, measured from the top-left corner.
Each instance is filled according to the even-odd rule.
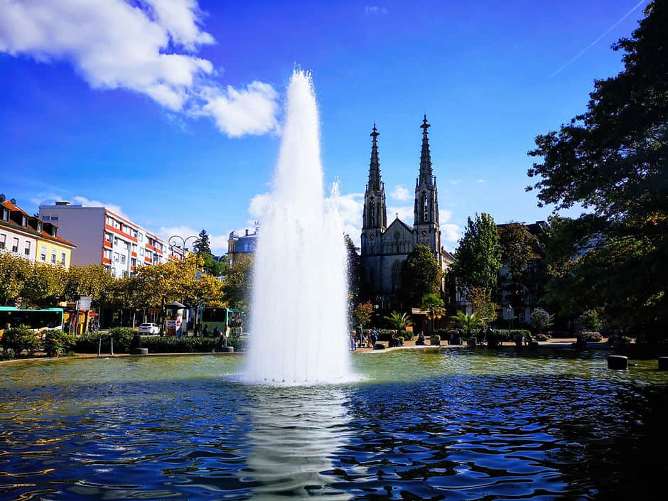
[[[43,221],[58,225],[64,238],[77,242],[72,264],[104,264],[121,278],[134,275],[141,266],[170,259],[163,239],[106,207],[56,202],[40,205],[39,214]]]

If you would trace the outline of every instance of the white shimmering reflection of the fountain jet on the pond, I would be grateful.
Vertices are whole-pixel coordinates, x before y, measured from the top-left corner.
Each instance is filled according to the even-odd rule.
[[[244,411],[249,414],[252,446],[239,473],[254,480],[254,497],[264,501],[306,499],[313,495],[340,501],[352,498],[335,489],[333,458],[345,446],[350,416],[345,394],[336,388],[258,388]],[[242,478],[243,480],[243,478]]]

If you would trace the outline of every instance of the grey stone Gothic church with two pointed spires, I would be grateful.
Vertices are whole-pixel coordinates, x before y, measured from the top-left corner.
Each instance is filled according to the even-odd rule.
[[[453,262],[452,255],[441,247],[441,227],[438,223],[438,190],[431,166],[429,127],[426,115],[422,129],[420,168],[415,183],[413,224],[399,216],[387,225],[385,187],[380,177],[378,136],[376,124],[371,133],[369,181],[364,194],[362,216],[362,270],[372,301],[381,308],[397,303],[402,286],[402,264],[415,249],[424,244],[445,269]],[[444,281],[441,282],[443,293]]]

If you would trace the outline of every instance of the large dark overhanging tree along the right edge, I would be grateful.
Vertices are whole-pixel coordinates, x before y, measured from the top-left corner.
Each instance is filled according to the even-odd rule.
[[[624,69],[597,80],[587,111],[536,138],[540,203],[591,210],[551,231],[551,300],[603,308],[639,340],[668,335],[668,1],[613,45]]]

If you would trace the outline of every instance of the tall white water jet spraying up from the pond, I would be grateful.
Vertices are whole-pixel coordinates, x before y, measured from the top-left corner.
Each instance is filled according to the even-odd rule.
[[[320,384],[350,379],[343,224],[323,197],[311,75],[293,72],[271,202],[254,265],[244,379]]]

